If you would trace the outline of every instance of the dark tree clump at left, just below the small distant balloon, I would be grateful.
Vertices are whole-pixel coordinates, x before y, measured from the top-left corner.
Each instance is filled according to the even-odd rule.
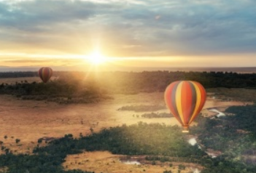
[[[99,102],[111,99],[97,84],[82,81],[58,79],[47,82],[15,82],[0,84],[0,94],[12,94],[22,100],[47,100],[59,103]]]

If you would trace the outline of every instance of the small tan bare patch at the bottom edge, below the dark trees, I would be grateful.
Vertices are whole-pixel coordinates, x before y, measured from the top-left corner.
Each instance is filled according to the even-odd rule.
[[[66,157],[66,162],[63,167],[69,169],[82,169],[90,172],[109,172],[109,173],[130,173],[130,172],[150,172],[159,173],[164,171],[178,172],[179,164],[186,166],[181,170],[181,173],[189,173],[192,168],[202,166],[196,164],[187,164],[182,162],[166,162],[160,163],[158,161],[155,165],[152,164],[124,164],[120,161],[122,155],[113,155],[108,151],[85,152],[76,155],[69,155]],[[170,166],[172,164],[172,166]]]

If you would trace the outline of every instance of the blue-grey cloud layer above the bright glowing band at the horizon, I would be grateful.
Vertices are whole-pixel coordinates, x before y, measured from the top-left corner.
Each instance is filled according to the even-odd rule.
[[[0,1],[0,46],[79,54],[98,39],[109,56],[255,53],[255,18],[252,0]]]

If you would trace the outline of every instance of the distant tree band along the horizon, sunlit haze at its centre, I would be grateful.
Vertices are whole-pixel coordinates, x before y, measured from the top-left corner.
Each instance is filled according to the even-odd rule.
[[[1,72],[0,78],[38,76],[37,72]],[[97,81],[106,88],[119,88],[115,92],[155,92],[164,91],[172,81],[198,81],[205,88],[255,88],[256,73],[233,72],[184,72],[184,71],[142,71],[142,72],[79,72],[54,71],[53,76],[61,79]]]

